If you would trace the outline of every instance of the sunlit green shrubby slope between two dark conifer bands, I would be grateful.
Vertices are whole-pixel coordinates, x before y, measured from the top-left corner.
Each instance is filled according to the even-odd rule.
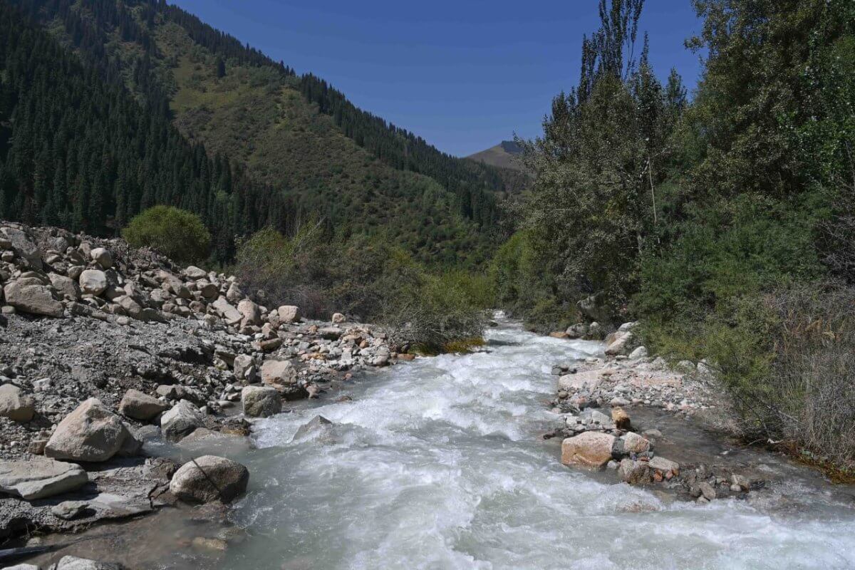
[[[339,131],[272,68],[227,66],[175,24],[158,26],[163,80],[173,85],[176,124],[209,151],[295,192],[307,210],[352,232],[385,232],[425,261],[480,261],[486,238],[457,214],[433,179],[387,166]]]

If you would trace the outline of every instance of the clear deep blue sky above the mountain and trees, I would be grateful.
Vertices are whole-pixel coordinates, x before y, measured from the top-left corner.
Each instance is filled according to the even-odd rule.
[[[598,27],[597,0],[169,1],[457,156],[540,134]],[[640,28],[660,77],[675,67],[696,84],[683,40],[699,27],[690,0],[647,0]]]

